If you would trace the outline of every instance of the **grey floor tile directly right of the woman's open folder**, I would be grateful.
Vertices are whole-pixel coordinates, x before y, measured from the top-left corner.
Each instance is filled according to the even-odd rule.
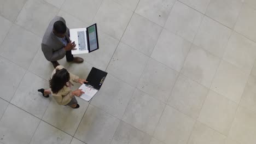
[[[121,119],[132,97],[134,87],[108,74],[91,104]]]

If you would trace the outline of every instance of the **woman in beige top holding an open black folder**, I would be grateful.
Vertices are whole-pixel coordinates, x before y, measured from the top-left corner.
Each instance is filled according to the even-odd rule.
[[[59,65],[51,74],[51,79],[49,80],[50,89],[41,88],[38,89],[38,92],[41,92],[46,98],[49,97],[49,94],[52,94],[53,98],[58,104],[68,105],[74,109],[77,109],[79,104],[77,104],[77,99],[75,99],[74,96],[80,97],[84,92],[82,89],[72,91],[72,82],[79,82],[83,84],[87,81],[84,79],[79,79],[78,76],[68,73],[68,71],[62,65]]]

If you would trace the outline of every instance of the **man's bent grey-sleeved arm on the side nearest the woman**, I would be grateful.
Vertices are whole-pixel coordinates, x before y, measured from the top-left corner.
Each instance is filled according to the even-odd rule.
[[[58,61],[63,57],[65,57],[66,51],[64,48],[57,51],[53,51],[53,49],[51,49],[45,44],[41,44],[41,46],[42,46],[42,51],[44,53],[45,58],[50,62]]]

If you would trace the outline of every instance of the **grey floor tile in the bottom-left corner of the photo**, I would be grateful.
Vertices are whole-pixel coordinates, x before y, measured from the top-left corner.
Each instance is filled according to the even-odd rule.
[[[40,119],[9,104],[0,121],[0,142],[27,144],[39,122]]]

